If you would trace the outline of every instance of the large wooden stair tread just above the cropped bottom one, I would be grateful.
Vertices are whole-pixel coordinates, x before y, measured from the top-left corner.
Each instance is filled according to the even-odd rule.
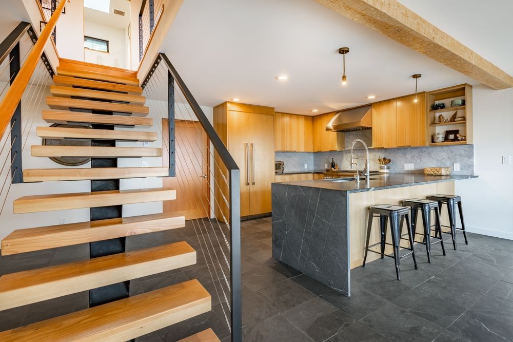
[[[211,297],[198,280],[0,333],[3,342],[127,341],[208,312]]]

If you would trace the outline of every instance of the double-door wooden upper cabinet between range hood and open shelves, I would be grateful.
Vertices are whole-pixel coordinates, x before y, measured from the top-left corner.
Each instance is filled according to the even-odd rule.
[[[372,104],[372,147],[426,145],[426,94]]]

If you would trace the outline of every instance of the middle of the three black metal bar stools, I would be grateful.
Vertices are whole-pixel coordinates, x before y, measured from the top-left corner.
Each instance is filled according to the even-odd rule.
[[[442,225],[440,223],[440,210],[437,201],[423,200],[423,199],[409,199],[403,201],[404,206],[409,206],[411,209],[411,230],[413,236],[416,234],[423,235],[424,240],[421,242],[426,245],[427,261],[431,262],[431,244],[438,243],[442,245],[442,253],[445,255],[444,240],[442,239]],[[416,232],[417,213],[422,213],[422,223],[424,224],[424,233]],[[431,230],[431,211],[435,212],[435,229]],[[431,242],[431,231],[435,232],[436,241]],[[440,238],[438,238],[440,234]]]

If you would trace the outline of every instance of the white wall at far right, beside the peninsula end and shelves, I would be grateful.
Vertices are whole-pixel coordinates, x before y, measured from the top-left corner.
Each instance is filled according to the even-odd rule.
[[[513,240],[513,89],[473,87],[474,160],[477,179],[456,182],[469,232]]]

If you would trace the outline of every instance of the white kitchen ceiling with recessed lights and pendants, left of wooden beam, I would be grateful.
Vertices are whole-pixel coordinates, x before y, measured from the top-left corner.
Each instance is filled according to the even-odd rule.
[[[441,13],[458,23],[457,9]],[[342,46],[351,50],[345,87],[337,52]],[[312,108],[322,113],[412,93],[414,73],[422,73],[419,91],[477,83],[313,0],[185,0],[162,50],[206,106],[240,98],[313,115]],[[290,80],[275,80],[281,73]],[[368,94],[376,100],[367,100]]]

